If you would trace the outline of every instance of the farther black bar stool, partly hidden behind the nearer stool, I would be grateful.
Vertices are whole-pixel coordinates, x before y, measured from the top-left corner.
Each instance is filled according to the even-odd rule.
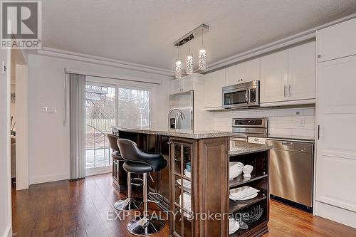
[[[114,163],[125,161],[125,159],[122,159],[122,156],[120,154],[120,149],[117,146],[118,138],[119,137],[117,137],[117,135],[108,134],[110,147],[112,149],[111,157]],[[118,211],[136,210],[142,205],[142,199],[136,199],[131,196],[131,185],[132,185],[131,180],[132,180],[131,174],[130,172],[127,172],[127,198],[120,199],[119,201],[115,202],[114,207]],[[141,184],[134,184],[134,185],[141,185]]]

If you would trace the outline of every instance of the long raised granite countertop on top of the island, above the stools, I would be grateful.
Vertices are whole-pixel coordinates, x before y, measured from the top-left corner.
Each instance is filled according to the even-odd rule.
[[[231,137],[232,132],[223,131],[199,131],[199,130],[145,130],[145,129],[133,129],[127,127],[113,127],[119,131],[125,132],[137,132],[145,133],[150,135],[164,135],[169,137],[184,137],[190,139],[204,139],[204,138],[214,138],[214,137]]]

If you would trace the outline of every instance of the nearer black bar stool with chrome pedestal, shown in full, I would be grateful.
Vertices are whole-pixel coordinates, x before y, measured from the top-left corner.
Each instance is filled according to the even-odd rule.
[[[147,206],[147,174],[157,172],[167,166],[167,161],[161,154],[148,154],[142,152],[135,142],[128,139],[117,139],[123,164],[127,172],[143,175],[143,215],[137,216],[127,224],[130,233],[137,236],[149,236],[162,230],[163,221],[152,218]]]

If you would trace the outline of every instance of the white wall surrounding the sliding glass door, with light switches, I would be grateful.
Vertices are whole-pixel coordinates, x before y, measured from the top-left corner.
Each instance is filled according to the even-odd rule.
[[[63,127],[64,69],[110,75],[160,79],[152,98],[152,127],[167,127],[169,77],[83,63],[63,58],[28,55],[28,175],[30,184],[69,178],[69,126]],[[43,114],[41,107],[56,108]]]

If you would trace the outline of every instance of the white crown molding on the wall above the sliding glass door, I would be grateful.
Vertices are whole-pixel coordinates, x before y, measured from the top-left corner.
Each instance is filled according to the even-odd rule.
[[[43,47],[37,51],[38,55],[51,56],[55,58],[65,58],[70,60],[77,60],[85,63],[95,63],[98,65],[107,65],[115,68],[124,68],[129,70],[137,70],[144,73],[153,73],[157,75],[174,76],[173,70],[163,68],[155,68],[152,66],[141,65],[137,63],[129,63],[122,60],[115,60],[112,58],[103,58],[98,56],[91,56],[85,53],[74,53],[70,51],[63,51],[56,48]]]

